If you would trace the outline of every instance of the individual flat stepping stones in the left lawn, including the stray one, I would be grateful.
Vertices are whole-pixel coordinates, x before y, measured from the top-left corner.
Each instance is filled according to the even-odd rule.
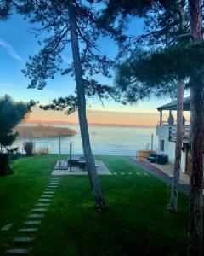
[[[36,203],[36,207],[39,207],[39,208],[34,208],[31,210],[32,212],[39,212],[39,213],[29,214],[27,218],[29,218],[30,220],[27,220],[25,222],[25,224],[29,228],[26,228],[26,227],[21,228],[18,230],[19,233],[31,234],[31,233],[37,232],[36,226],[41,224],[41,220],[38,220],[38,219],[43,218],[45,216],[45,214],[40,213],[40,212],[48,211],[47,207],[50,205],[50,202],[52,201],[52,199],[54,197],[54,193],[55,193],[55,190],[58,188],[60,179],[61,179],[61,177],[59,177],[59,176],[52,177],[52,179],[48,183],[48,186],[46,187],[45,191],[41,195],[41,198]],[[8,230],[12,225],[13,224],[7,224],[7,225],[3,226],[2,230]],[[34,226],[35,228],[33,228],[32,226]],[[25,247],[26,245],[31,244],[33,239],[34,239],[33,237],[29,237],[29,236],[17,236],[17,237],[14,237],[13,243],[15,246],[23,245]],[[12,249],[8,249],[5,253],[10,254],[10,255],[23,255],[23,254],[27,254],[28,252],[29,251],[26,248],[12,248]]]

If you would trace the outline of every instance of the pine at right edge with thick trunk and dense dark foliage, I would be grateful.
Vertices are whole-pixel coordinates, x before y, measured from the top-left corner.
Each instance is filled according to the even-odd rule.
[[[113,3],[113,1],[109,1]],[[170,13],[169,3],[182,4],[186,10],[186,1],[158,1],[161,6]],[[156,3],[153,1],[152,3]],[[120,5],[120,4],[119,4]],[[120,7],[115,11],[124,13],[125,3],[122,2]],[[127,9],[130,5],[127,5]],[[188,6],[187,6],[188,7]],[[140,52],[133,55],[127,61],[127,65],[119,66],[117,82],[122,84],[121,89],[125,92],[126,99],[129,102],[134,102],[138,99],[144,99],[152,93],[159,95],[167,93],[173,89],[173,86],[178,81],[185,81],[190,87],[191,102],[191,131],[190,131],[190,145],[191,145],[191,172],[190,172],[190,228],[189,228],[189,254],[201,255],[203,243],[203,195],[202,195],[202,179],[203,179],[203,132],[204,132],[204,92],[203,92],[203,37],[202,37],[202,10],[201,0],[189,0],[190,12],[186,20],[189,26],[184,29],[184,32],[175,33],[173,40],[173,33],[171,30],[171,37],[167,32],[167,26],[162,29],[146,33],[141,37],[134,37],[136,42],[145,41],[147,37],[156,36],[153,42],[160,40],[159,49],[155,47],[152,52]],[[119,10],[119,11],[118,11]],[[170,12],[169,12],[170,11]],[[115,14],[116,14],[115,12]],[[106,10],[106,14],[108,14]],[[130,13],[130,10],[128,10]],[[154,17],[154,15],[152,15]],[[168,15],[166,15],[168,17]],[[176,16],[173,20],[168,19],[166,22],[170,25],[175,22],[179,24]],[[180,19],[180,15],[178,15]],[[161,19],[161,25],[165,24],[165,19]],[[111,20],[113,22],[113,20]],[[148,25],[151,25],[150,20]],[[155,20],[153,23],[156,26]],[[168,26],[169,26],[168,25]],[[154,26],[153,26],[154,27]],[[159,26],[158,26],[159,27]],[[152,29],[152,26],[150,26]],[[125,37],[123,37],[125,38]],[[126,38],[125,38],[126,39]],[[165,40],[166,43],[165,43]],[[169,41],[170,40],[170,41]],[[173,41],[182,41],[179,44],[173,45]],[[162,46],[163,42],[163,46]],[[170,43],[170,44],[169,44]],[[154,53],[155,52],[155,53]],[[160,68],[159,68],[160,67]],[[126,73],[126,74],[125,74]],[[125,77],[124,77],[125,74]],[[125,86],[127,84],[127,86]],[[181,93],[182,94],[182,93]],[[181,103],[182,104],[182,103]],[[180,104],[180,106],[181,106]],[[180,111],[181,113],[181,111]],[[180,114],[181,116],[181,114]],[[179,130],[179,128],[178,128]],[[179,143],[180,145],[180,143]],[[180,146],[179,146],[180,147]],[[180,149],[177,148],[180,152]],[[176,167],[176,165],[175,165]],[[179,165],[178,165],[179,168]],[[176,168],[175,168],[176,169]],[[178,173],[178,172],[177,172]],[[176,177],[178,183],[178,177]],[[175,199],[173,186],[173,198]],[[175,206],[175,201],[172,201],[172,207]]]

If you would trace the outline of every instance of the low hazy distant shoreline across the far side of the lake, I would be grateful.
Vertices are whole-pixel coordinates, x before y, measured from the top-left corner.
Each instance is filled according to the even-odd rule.
[[[78,123],[71,123],[65,121],[26,121],[22,123],[23,125],[79,125]],[[98,123],[88,123],[90,126],[112,126],[112,127],[138,127],[138,128],[156,128],[156,125],[123,125],[123,124],[98,124]]]

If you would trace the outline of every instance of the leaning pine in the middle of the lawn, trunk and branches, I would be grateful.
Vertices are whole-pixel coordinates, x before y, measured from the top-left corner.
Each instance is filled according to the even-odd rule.
[[[88,1],[18,1],[16,9],[31,20],[32,23],[40,22],[42,27],[35,30],[36,33],[47,32],[38,55],[30,57],[26,64],[24,74],[31,79],[30,88],[43,89],[48,78],[54,79],[54,74],[74,75],[77,84],[77,96],[71,95],[54,100],[44,109],[68,108],[68,113],[78,110],[81,128],[82,147],[88,166],[94,201],[99,211],[105,209],[105,201],[101,193],[99,178],[94,164],[86,117],[87,96],[106,97],[112,94],[112,90],[105,84],[99,84],[94,78],[99,73],[109,76],[111,61],[99,54],[96,42],[101,35],[98,26],[97,11]],[[79,47],[80,41],[80,47]],[[61,54],[65,54],[67,45],[71,43],[73,62],[66,68],[60,68],[63,63]],[[81,48],[81,52],[80,52]]]

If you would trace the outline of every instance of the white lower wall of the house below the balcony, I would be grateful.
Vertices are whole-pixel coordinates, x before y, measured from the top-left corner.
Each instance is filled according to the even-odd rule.
[[[168,162],[174,164],[176,143],[169,142],[170,125],[156,126],[156,135],[158,136],[158,154],[167,154]],[[164,150],[161,150],[161,140],[164,141]],[[185,153],[181,153],[181,170],[185,171]]]

